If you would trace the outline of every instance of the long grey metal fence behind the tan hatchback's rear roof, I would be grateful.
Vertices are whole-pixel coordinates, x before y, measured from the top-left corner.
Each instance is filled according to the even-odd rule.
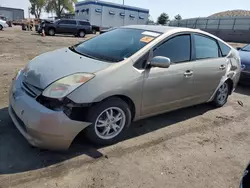
[[[228,42],[250,43],[250,17],[192,18],[170,21],[169,26],[201,29]]]

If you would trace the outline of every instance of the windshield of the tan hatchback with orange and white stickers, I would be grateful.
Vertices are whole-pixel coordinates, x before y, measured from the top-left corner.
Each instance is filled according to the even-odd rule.
[[[122,61],[152,42],[160,33],[138,29],[114,29],[70,49],[108,62]]]

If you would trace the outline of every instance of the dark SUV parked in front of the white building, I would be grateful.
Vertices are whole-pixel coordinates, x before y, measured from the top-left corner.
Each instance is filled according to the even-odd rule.
[[[44,28],[46,35],[53,36],[55,34],[72,34],[79,37],[85,37],[86,34],[92,33],[92,26],[88,21],[61,19],[55,22],[43,21],[38,32],[42,32]]]

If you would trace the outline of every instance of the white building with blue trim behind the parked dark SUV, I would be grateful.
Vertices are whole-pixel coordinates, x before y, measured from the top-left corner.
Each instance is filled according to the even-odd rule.
[[[149,10],[105,1],[86,0],[75,5],[75,18],[102,28],[147,24]]]

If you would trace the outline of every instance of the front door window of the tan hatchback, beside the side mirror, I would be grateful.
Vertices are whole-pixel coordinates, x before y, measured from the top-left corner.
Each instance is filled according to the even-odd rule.
[[[168,57],[171,63],[190,61],[191,39],[190,35],[179,35],[167,40],[154,50],[155,56]]]

